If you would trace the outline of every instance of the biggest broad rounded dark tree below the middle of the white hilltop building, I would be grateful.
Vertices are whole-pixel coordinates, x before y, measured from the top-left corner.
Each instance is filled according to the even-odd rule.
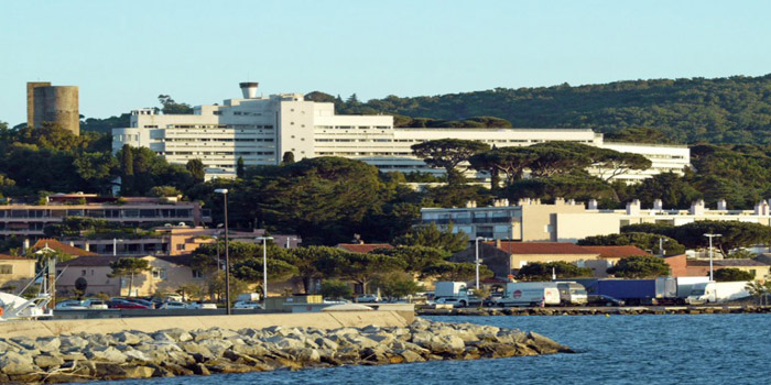
[[[251,218],[300,234],[306,244],[348,241],[383,205],[386,185],[363,162],[314,157],[262,172],[248,182],[254,187],[234,194],[234,200],[241,197],[253,207]],[[260,197],[256,205],[254,196]]]

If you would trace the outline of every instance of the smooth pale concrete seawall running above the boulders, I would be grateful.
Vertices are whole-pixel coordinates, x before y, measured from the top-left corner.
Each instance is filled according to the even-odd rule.
[[[0,322],[0,336],[13,337],[57,337],[79,332],[115,333],[137,330],[145,333],[169,328],[185,331],[210,329],[214,327],[238,330],[243,328],[264,329],[280,327],[313,327],[317,329],[337,329],[344,327],[363,328],[406,327],[415,319],[414,311],[328,311],[305,314],[264,314],[238,316],[188,316],[188,317],[137,317],[108,319],[46,320],[46,321],[9,321]]]

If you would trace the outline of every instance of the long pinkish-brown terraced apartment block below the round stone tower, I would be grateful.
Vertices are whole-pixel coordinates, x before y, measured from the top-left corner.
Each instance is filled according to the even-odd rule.
[[[95,194],[56,194],[43,205],[0,206],[0,237],[37,238],[48,224],[67,217],[85,217],[118,222],[127,227],[158,223],[203,226],[211,221],[210,211],[199,202],[174,198],[100,197]]]

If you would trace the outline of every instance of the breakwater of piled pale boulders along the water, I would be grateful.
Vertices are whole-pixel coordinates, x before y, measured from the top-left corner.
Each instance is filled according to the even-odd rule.
[[[416,319],[406,328],[169,329],[0,338],[0,383],[65,383],[571,353],[534,332]]]

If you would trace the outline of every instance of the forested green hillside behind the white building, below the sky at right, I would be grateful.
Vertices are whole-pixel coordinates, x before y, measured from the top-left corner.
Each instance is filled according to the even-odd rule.
[[[389,96],[367,102],[356,96],[344,101],[312,92],[308,99],[334,101],[338,113],[390,113],[450,122],[496,117],[515,128],[588,128],[604,133],[649,128],[673,143],[771,144],[771,75],[496,88],[433,97]]]

